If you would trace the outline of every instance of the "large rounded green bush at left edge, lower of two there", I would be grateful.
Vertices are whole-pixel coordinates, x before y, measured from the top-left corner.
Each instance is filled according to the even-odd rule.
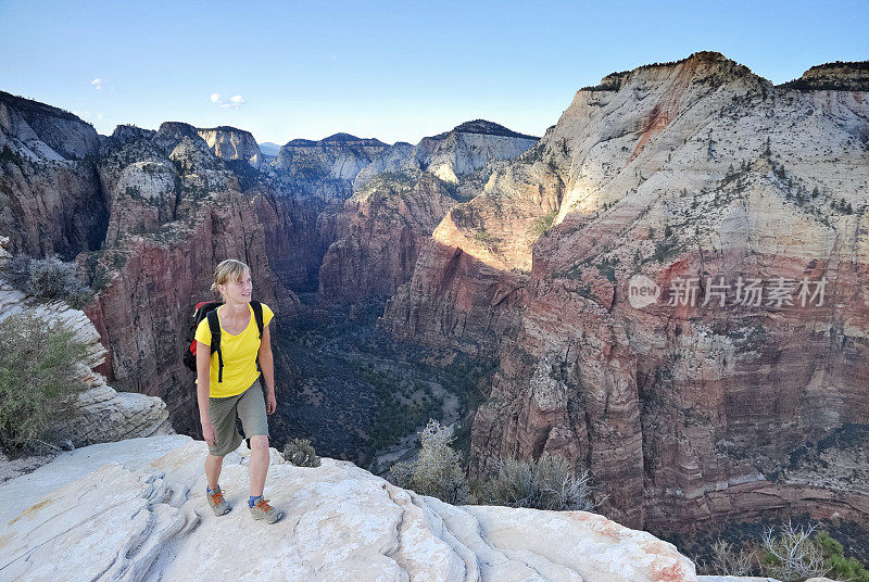
[[[78,365],[87,344],[60,322],[32,314],[0,321],[0,445],[21,453],[45,447],[87,389]]]

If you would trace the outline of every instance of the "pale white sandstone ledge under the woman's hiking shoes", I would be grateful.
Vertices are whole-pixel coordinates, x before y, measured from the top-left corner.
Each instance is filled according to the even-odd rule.
[[[245,509],[248,450],[227,455],[232,511],[204,498],[205,443],[130,439],[79,448],[0,485],[4,580],[694,581],[676,547],[603,516],[455,507],[348,461],[285,463],[274,526]]]

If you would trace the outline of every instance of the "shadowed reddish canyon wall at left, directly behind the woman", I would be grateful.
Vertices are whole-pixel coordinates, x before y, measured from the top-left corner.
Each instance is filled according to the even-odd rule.
[[[196,433],[194,376],[181,357],[216,264],[248,263],[276,314],[301,308],[269,266],[262,202],[187,124],[98,137],[40,103],[4,96],[2,106],[14,121],[3,126],[0,173],[10,252],[75,256],[97,291],[85,313],[109,352],[98,370],[121,390],[162,397],[173,427]]]

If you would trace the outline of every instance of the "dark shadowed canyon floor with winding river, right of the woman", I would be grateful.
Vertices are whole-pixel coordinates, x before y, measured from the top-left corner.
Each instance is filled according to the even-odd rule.
[[[311,305],[313,294],[301,293]],[[463,354],[391,340],[378,326],[381,301],[314,308],[279,321],[273,446],[310,439],[318,454],[382,475],[413,457],[430,418],[451,427],[455,448],[470,448],[470,421],[491,376]]]

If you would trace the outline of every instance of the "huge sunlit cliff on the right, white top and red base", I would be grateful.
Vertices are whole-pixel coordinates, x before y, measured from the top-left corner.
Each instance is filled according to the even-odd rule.
[[[562,454],[651,528],[869,518],[859,459],[801,454],[869,418],[869,77],[817,68],[822,90],[718,53],[610,75],[443,218],[383,324],[499,350],[473,472]],[[634,275],[657,301],[632,306]]]

